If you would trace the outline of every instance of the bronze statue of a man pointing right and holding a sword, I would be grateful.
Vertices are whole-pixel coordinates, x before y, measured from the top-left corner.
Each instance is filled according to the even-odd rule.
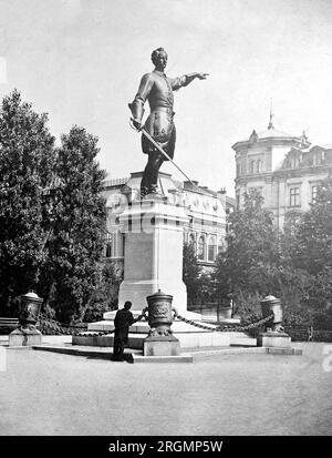
[[[151,113],[144,129],[159,143],[170,159],[174,156],[176,130],[173,122],[174,95],[173,91],[188,85],[196,78],[205,80],[208,73],[189,73],[179,78],[166,77],[164,70],[167,64],[167,53],[158,48],[152,53],[155,69],[143,75],[139,89],[129,109],[133,114],[133,123],[137,130],[142,129],[144,103],[148,100]],[[142,150],[148,154],[148,161],[141,182],[141,197],[157,193],[157,180],[160,165],[167,159],[154,146],[146,136],[142,135]]]

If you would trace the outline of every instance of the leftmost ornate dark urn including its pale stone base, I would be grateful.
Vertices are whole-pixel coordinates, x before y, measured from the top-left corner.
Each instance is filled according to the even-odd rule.
[[[35,293],[29,292],[21,296],[19,327],[9,335],[9,346],[40,345],[42,334],[37,329],[43,299]]]

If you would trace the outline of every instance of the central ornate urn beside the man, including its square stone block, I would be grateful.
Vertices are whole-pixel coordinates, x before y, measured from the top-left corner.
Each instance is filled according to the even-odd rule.
[[[147,296],[146,301],[148,306],[142,313],[147,319],[151,329],[143,344],[144,355],[178,355],[179,342],[173,336],[170,329],[172,323],[177,315],[177,311],[172,306],[173,296],[158,289],[157,293]]]

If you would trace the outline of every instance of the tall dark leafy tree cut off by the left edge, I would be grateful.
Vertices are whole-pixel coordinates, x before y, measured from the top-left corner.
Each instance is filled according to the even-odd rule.
[[[49,231],[44,191],[53,180],[54,138],[46,114],[38,114],[14,90],[0,111],[0,311],[39,281]]]

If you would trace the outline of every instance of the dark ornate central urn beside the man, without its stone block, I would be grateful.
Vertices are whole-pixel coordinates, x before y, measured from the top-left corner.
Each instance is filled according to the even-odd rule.
[[[144,308],[143,315],[151,327],[149,336],[172,335],[170,326],[177,315],[176,309],[172,306],[173,296],[158,289],[157,293],[147,296],[146,301],[148,306]]]

